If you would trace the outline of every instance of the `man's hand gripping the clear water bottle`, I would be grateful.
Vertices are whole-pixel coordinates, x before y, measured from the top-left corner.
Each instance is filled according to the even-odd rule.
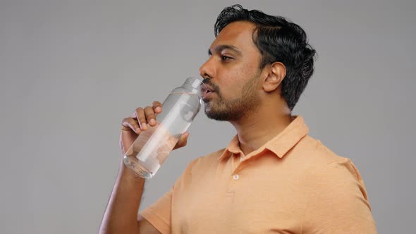
[[[161,111],[161,103],[153,101],[153,106],[147,106],[145,109],[139,107],[130,117],[123,119],[120,133],[120,149],[123,155],[130,149],[137,136],[147,130],[148,125],[151,127],[156,125],[156,114]],[[183,133],[173,149],[184,147],[188,142],[188,136],[188,132]]]

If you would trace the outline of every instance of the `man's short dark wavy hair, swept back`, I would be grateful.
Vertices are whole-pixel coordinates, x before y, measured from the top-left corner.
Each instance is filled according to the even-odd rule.
[[[282,16],[269,16],[262,11],[248,11],[241,5],[233,5],[224,8],[216,19],[215,37],[226,25],[235,21],[256,25],[252,39],[262,55],[260,69],[276,61],[286,66],[281,96],[293,110],[314,73],[316,51],[308,44],[305,31]]]

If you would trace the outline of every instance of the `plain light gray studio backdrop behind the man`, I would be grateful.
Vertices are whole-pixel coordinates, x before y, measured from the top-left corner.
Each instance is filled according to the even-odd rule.
[[[415,1],[4,1],[0,3],[1,233],[97,233],[123,118],[198,74],[225,6],[305,28],[319,58],[294,113],[353,160],[379,233],[415,211]],[[203,112],[149,180],[142,208],[185,166],[228,144]]]

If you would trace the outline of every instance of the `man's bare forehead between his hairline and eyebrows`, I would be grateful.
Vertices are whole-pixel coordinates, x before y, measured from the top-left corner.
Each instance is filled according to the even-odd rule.
[[[219,32],[218,37],[212,42],[211,48],[219,45],[231,45],[245,52],[255,52],[257,47],[252,40],[255,25],[250,22],[233,22]]]

